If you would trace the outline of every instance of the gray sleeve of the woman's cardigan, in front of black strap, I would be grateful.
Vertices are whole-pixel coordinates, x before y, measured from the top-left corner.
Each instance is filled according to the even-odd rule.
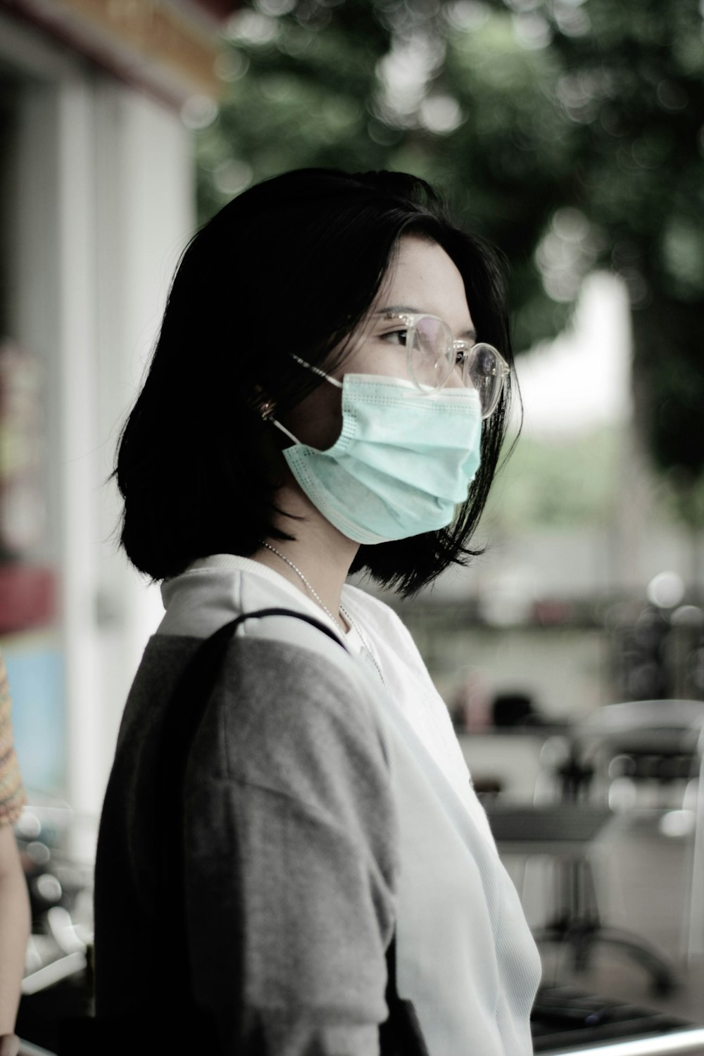
[[[186,787],[193,987],[227,1056],[379,1050],[398,834],[373,706],[326,658],[231,647]]]

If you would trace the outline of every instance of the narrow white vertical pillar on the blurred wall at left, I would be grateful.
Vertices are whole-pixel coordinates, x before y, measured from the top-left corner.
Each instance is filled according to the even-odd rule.
[[[96,652],[95,135],[92,83],[58,86],[58,478],[61,628],[66,691],[66,795],[95,810],[100,678]],[[77,830],[80,831],[80,830]]]

